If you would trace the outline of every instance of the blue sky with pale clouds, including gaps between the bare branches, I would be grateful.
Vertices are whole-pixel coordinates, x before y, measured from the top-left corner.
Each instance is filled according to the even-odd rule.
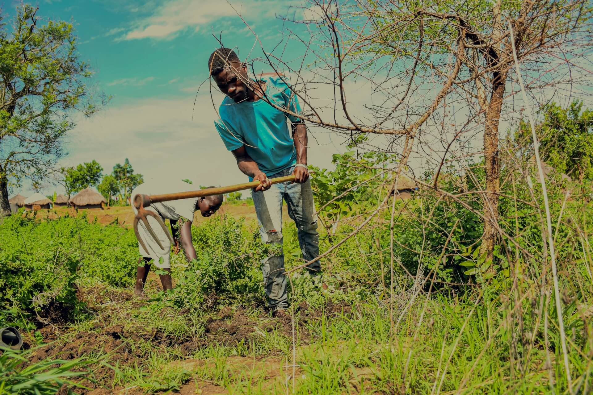
[[[306,40],[315,34],[313,25],[286,21],[320,19],[311,14],[319,9],[304,11],[307,0],[37,1],[38,15],[43,20],[65,20],[74,24],[81,59],[94,71],[92,88],[111,97],[107,107],[93,117],[75,118],[76,127],[66,139],[69,154],[60,160],[59,166],[76,166],[95,159],[103,166],[103,173],[110,174],[116,163],[128,158],[135,172],[144,175],[146,181],[190,179],[196,185],[216,186],[247,181],[213,126],[223,96],[209,83],[207,61],[219,47],[218,38],[225,46],[237,50],[244,60],[262,58],[263,47],[267,53],[274,50],[282,54],[283,61],[295,69],[305,64],[301,73],[304,81],[318,81],[314,89],[307,91],[314,107],[329,120],[340,113],[340,108],[337,111],[322,108],[333,100],[333,88],[326,83],[327,76],[318,74],[323,71],[306,66],[309,59],[302,58],[304,44],[287,38],[289,34],[297,34]],[[5,21],[10,21],[19,5],[20,1],[0,0]],[[315,39],[323,40],[323,37]],[[578,62],[585,62],[585,69],[590,70],[591,53]],[[255,63],[255,67],[256,72],[273,71],[270,66],[264,66],[264,62]],[[280,71],[290,76],[288,69]],[[584,73],[589,82],[590,73]],[[526,77],[528,83],[532,76],[527,74]],[[431,81],[423,82],[425,90],[422,92],[440,89],[438,79]],[[401,89],[406,87],[406,84],[394,82],[396,85]],[[566,105],[576,94],[585,99],[585,105],[591,105],[593,95],[586,85],[584,88],[568,82],[565,86],[553,85],[541,89],[535,101],[525,105],[519,95],[515,95],[518,85],[511,82],[506,102],[515,111],[526,107],[534,112],[538,103],[553,99]],[[381,94],[374,94],[374,88],[365,79],[355,77],[347,79],[344,87],[350,115],[366,118],[367,124],[372,124],[368,107],[382,105]],[[582,89],[588,90],[588,94]],[[415,99],[408,101],[413,106]],[[403,107],[394,118],[407,123],[412,118]],[[468,108],[463,102],[461,107],[455,107],[454,103],[449,107],[454,124],[464,124]],[[510,114],[517,121],[518,115],[512,111]],[[522,110],[517,114],[523,114]],[[501,120],[501,134],[511,128],[509,122]],[[471,130],[466,139],[476,143],[473,152],[479,152],[481,147],[481,141],[474,139],[480,130],[481,127]],[[422,146],[416,144],[410,156],[410,167],[422,174],[423,166],[431,167],[445,154],[451,155],[447,142],[453,138],[452,131],[448,130],[446,135],[423,136]],[[309,135],[308,163],[331,168],[332,155],[345,151],[345,137],[311,128]],[[369,139],[377,146],[388,145],[385,136],[372,135]],[[452,146],[458,152],[461,152],[457,147],[461,140]],[[466,140],[463,144],[469,146]],[[60,193],[63,189],[47,182],[42,192],[49,195],[54,191]],[[13,188],[12,194],[17,192],[30,195],[30,184],[25,182],[23,188]]]

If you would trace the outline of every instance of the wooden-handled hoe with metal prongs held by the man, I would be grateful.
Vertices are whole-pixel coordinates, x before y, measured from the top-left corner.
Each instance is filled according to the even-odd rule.
[[[270,184],[279,184],[280,182],[294,181],[294,179],[295,179],[294,175],[288,175],[288,176],[278,177],[278,178],[270,178]],[[134,219],[134,233],[136,234],[136,239],[138,239],[138,242],[142,245],[142,248],[144,248],[146,250],[146,246],[145,246],[144,242],[142,241],[140,234],[138,233],[138,222],[140,220],[142,220],[142,222],[144,223],[144,226],[146,226],[146,230],[148,230],[148,233],[150,233],[152,238],[157,242],[158,246],[161,249],[164,249],[163,246],[161,245],[160,240],[158,240],[157,235],[155,235],[154,231],[148,224],[147,217],[151,216],[151,217],[154,217],[155,220],[157,220],[158,224],[160,224],[162,230],[165,231],[165,233],[169,237],[169,240],[171,240],[171,243],[174,243],[173,237],[171,237],[171,234],[167,230],[167,227],[165,227],[165,223],[161,220],[161,217],[154,211],[145,209],[145,207],[148,207],[149,205],[151,205],[151,203],[159,203],[162,201],[170,201],[170,200],[178,200],[178,199],[198,198],[198,197],[205,197],[205,196],[218,195],[218,194],[228,194],[229,192],[237,192],[237,191],[248,190],[249,188],[255,188],[259,184],[260,184],[259,181],[251,181],[251,182],[245,182],[243,184],[229,185],[228,187],[207,188],[205,190],[199,190],[199,191],[176,192],[173,194],[162,194],[162,195],[142,195],[142,194],[135,195],[133,202],[134,202],[134,206],[138,209],[138,214],[136,214],[136,218]]]

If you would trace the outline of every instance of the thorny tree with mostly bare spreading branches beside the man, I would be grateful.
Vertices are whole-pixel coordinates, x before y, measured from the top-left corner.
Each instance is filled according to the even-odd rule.
[[[310,19],[291,22],[317,29],[306,38],[289,29],[285,33],[302,43],[305,54],[297,61],[286,60],[279,47],[270,51],[262,47],[263,56],[251,61],[254,72],[263,62],[290,75],[286,82],[306,108],[303,114],[291,115],[311,126],[349,136],[387,136],[375,148],[398,155],[397,172],[406,168],[420,132],[439,136],[440,142],[425,139],[425,147],[418,148],[429,152],[429,160],[438,158],[434,187],[452,144],[482,129],[479,153],[484,158],[485,185],[480,255],[485,253],[492,261],[499,237],[500,120],[505,105],[506,114],[517,111],[514,92],[508,89],[515,78],[513,49],[527,70],[528,91],[566,84],[566,73],[579,68],[580,57],[591,45],[588,2],[358,0],[352,6],[313,0],[302,9]],[[576,82],[576,75],[569,79]],[[352,104],[361,84],[370,85],[379,102],[365,105],[365,111]],[[326,97],[316,96],[315,91]],[[451,122],[452,107],[464,121]],[[434,143],[444,149],[438,153],[431,146]]]

